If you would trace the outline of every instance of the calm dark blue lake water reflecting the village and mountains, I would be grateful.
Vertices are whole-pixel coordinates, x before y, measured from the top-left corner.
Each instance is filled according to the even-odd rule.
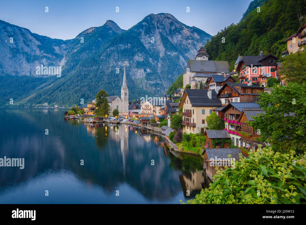
[[[1,204],[178,204],[208,186],[203,159],[171,153],[161,136],[64,111],[0,109],[0,158],[24,158],[24,169],[0,167]]]

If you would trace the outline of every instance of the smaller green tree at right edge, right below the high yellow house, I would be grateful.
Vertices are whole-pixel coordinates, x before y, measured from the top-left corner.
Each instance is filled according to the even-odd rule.
[[[290,54],[283,58],[283,69],[280,74],[285,76],[285,81],[287,83],[306,83],[306,52]]]

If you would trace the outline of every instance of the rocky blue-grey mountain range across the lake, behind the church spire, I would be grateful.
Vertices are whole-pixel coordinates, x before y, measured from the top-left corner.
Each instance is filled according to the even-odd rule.
[[[6,24],[9,28],[14,26]],[[16,30],[24,29],[14,27]],[[14,32],[17,31],[11,31],[9,35],[14,36]],[[43,39],[43,36],[32,36]],[[195,57],[201,42],[205,44],[210,37],[199,28],[187,26],[167,13],[150,14],[127,31],[113,21],[106,21],[103,26],[89,28],[72,40],[44,37],[50,41],[47,44],[49,52],[59,46],[62,46],[63,51],[53,54],[54,60],[50,62],[44,61],[42,51],[37,51],[35,57],[42,57],[37,61],[32,58],[29,62],[24,61],[18,54],[11,56],[19,57],[19,61],[16,59],[10,67],[1,71],[5,76],[0,76],[0,88],[3,88],[0,106],[8,104],[10,98],[14,99],[18,107],[35,107],[43,103],[71,105],[80,103],[81,98],[84,102],[92,100],[101,89],[109,95],[120,95],[124,64],[129,100],[140,99],[145,95],[161,96],[184,72],[188,59]],[[84,43],[81,42],[82,38]],[[24,42],[32,40],[29,38]],[[19,43],[20,39],[15,41]],[[9,49],[7,46],[3,48]],[[49,58],[52,57],[50,53]],[[3,58],[0,56],[0,66],[3,65]],[[14,66],[20,66],[20,62],[33,65],[30,67],[32,73],[13,73]],[[38,80],[37,77],[31,77],[37,76],[34,73],[35,66],[40,64],[62,66],[61,77],[44,76]],[[20,76],[23,74],[26,76]],[[32,81],[26,83],[30,77]],[[12,87],[19,88],[12,90]]]

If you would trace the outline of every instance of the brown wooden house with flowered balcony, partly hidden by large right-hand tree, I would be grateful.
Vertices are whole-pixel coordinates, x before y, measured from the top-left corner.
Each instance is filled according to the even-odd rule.
[[[261,144],[262,147],[265,147],[266,144],[259,142],[256,138],[260,137],[260,131],[255,130],[254,127],[247,124],[247,121],[254,121],[254,118],[258,114],[264,114],[265,111],[261,108],[243,108],[242,112],[237,120],[239,127],[239,136],[240,136],[240,147],[246,148],[248,150],[256,151],[258,145]]]

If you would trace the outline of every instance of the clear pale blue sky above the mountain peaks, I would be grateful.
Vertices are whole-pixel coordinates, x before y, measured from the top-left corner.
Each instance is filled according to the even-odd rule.
[[[2,1],[0,20],[28,28],[39,35],[72,39],[80,32],[112,20],[122,29],[129,29],[150,13],[170,13],[188,26],[196,26],[215,35],[237,23],[251,0],[134,0],[134,1]],[[45,12],[45,7],[49,12]],[[119,13],[116,13],[116,6]],[[186,12],[186,7],[190,12]]]

